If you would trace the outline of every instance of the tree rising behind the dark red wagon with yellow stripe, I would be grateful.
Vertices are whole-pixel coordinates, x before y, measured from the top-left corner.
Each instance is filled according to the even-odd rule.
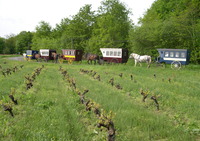
[[[66,20],[65,20],[66,21]],[[91,11],[91,5],[85,5],[79,12],[72,16],[71,20],[65,22],[61,43],[63,48],[74,48],[84,50],[87,47],[88,39],[91,38],[93,24],[95,22],[94,11]]]

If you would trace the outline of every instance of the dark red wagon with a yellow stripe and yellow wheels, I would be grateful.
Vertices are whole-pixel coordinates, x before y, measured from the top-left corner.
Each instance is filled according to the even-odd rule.
[[[78,49],[62,49],[62,56],[68,63],[82,61],[83,51]]]

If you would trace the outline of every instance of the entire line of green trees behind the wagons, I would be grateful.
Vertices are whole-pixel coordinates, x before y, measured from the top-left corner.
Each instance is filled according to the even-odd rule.
[[[0,37],[0,53],[27,49],[82,49],[100,54],[99,48],[127,48],[130,52],[156,57],[158,48],[190,49],[191,61],[200,63],[200,1],[157,0],[138,25],[131,10],[119,0],[103,0],[96,11],[80,8],[52,28],[41,21],[35,32],[22,31]],[[134,14],[134,13],[133,13]]]

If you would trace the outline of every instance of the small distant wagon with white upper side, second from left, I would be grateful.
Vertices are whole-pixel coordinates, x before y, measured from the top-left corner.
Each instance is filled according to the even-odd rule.
[[[40,49],[41,59],[45,61],[54,60],[52,53],[56,53],[56,50],[53,49]]]

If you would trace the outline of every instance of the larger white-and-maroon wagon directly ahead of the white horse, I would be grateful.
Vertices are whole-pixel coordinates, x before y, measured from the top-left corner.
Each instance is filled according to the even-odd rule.
[[[126,63],[128,61],[128,49],[125,48],[100,48],[103,61],[108,63]]]

